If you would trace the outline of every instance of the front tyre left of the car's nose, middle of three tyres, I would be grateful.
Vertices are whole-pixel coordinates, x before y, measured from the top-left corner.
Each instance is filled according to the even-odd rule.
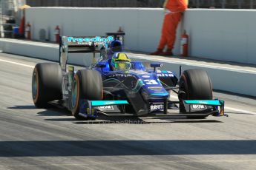
[[[79,120],[85,120],[79,115],[80,101],[102,100],[103,84],[99,72],[91,69],[82,69],[76,72],[73,78],[70,107],[72,115]]]

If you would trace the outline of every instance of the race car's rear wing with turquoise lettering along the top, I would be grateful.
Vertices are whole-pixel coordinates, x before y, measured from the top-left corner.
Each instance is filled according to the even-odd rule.
[[[114,36],[61,36],[59,38],[59,64],[62,70],[66,70],[68,61],[68,53],[93,53],[93,61],[95,53],[114,41]]]

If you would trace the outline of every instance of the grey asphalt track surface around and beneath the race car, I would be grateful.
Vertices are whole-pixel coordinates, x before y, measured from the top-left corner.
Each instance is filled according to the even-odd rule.
[[[256,101],[214,92],[229,118],[102,117],[36,109],[34,58],[0,53],[0,169],[255,169]]]

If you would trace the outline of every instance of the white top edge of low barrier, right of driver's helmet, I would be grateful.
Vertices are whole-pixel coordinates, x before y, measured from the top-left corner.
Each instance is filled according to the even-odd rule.
[[[206,68],[213,68],[213,69],[224,69],[224,70],[229,70],[229,71],[237,71],[237,72],[249,72],[249,73],[253,73],[256,74],[255,70],[250,70],[250,69],[236,69],[236,68],[232,68],[232,67],[221,67],[221,66],[213,66],[210,64],[198,64],[198,63],[191,63],[191,62],[187,62],[187,61],[172,61],[170,59],[163,59],[163,58],[145,58],[145,56],[139,56],[139,55],[129,55],[131,56],[131,58],[137,58],[137,59],[142,59],[142,60],[150,60],[150,61],[162,61],[165,63],[169,63],[169,64],[182,64],[182,65],[188,65],[188,66],[197,66],[197,67],[206,67]]]

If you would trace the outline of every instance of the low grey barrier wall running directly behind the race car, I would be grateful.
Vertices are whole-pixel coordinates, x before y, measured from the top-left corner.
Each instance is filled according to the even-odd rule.
[[[32,41],[19,41],[0,38],[0,49],[4,52],[10,52],[17,55],[27,55],[33,58],[42,58],[51,61],[59,61],[59,47],[57,44],[46,44]],[[161,58],[146,55],[130,55],[134,60],[148,62],[161,62],[165,64],[165,69],[179,72],[180,65],[183,69],[205,69],[211,78],[214,89],[220,89],[227,92],[234,92],[243,95],[256,96],[256,70],[233,69],[232,67],[214,66],[214,64],[188,61],[174,61],[172,58]],[[77,54],[70,55],[68,62],[89,66],[92,58],[90,55]]]

